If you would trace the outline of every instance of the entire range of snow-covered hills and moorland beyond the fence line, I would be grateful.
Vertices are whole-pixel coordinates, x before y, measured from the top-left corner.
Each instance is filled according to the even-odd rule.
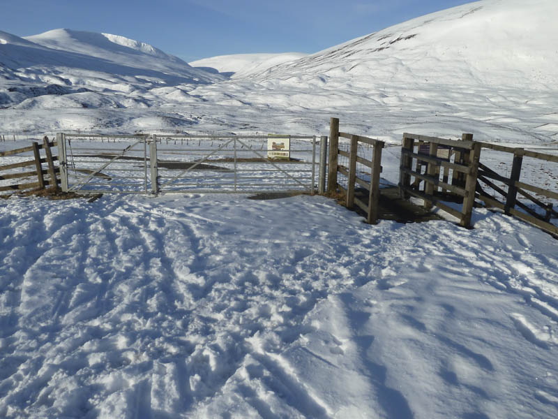
[[[120,36],[2,33],[0,131],[325,134],[337,116],[392,142],[407,131],[549,144],[556,15],[555,0],[481,0],[306,57],[241,54],[200,68]]]

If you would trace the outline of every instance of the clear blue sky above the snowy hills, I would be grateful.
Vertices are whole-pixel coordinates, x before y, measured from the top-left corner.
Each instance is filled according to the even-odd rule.
[[[186,61],[317,52],[470,0],[0,0],[0,30],[67,28],[150,43]]]

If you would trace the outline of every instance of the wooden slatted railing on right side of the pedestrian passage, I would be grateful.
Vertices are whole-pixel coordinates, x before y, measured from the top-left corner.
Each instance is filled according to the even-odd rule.
[[[400,161],[402,195],[422,198],[426,208],[435,205],[458,218],[460,226],[466,228],[471,227],[481,155],[481,145],[472,137],[463,134],[462,140],[446,140],[405,133]],[[461,211],[442,202],[447,200],[447,193],[462,198]]]

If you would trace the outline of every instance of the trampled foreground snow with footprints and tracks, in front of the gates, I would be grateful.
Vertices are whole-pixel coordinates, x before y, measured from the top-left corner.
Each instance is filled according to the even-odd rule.
[[[554,418],[558,253],[478,210],[0,203],[0,416]]]

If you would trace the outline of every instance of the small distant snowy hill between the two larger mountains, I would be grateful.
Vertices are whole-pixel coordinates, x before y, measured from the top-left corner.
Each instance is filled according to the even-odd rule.
[[[290,61],[296,61],[308,54],[285,52],[283,54],[233,54],[204,58],[190,62],[190,66],[205,71],[216,71],[230,78],[242,78],[253,73],[260,73],[268,68]]]

